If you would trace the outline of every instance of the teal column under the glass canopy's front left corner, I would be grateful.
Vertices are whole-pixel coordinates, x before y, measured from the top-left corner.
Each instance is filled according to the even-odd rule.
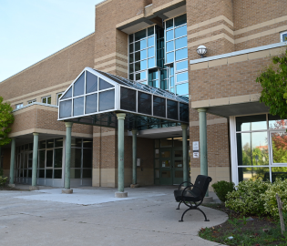
[[[66,151],[65,151],[65,190],[62,193],[73,193],[70,189],[70,167],[71,167],[71,140],[72,140],[72,122],[65,122],[66,126]]]

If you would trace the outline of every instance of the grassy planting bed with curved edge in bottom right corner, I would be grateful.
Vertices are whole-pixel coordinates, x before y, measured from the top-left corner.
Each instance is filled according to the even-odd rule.
[[[230,218],[218,226],[201,228],[199,235],[203,239],[225,245],[287,245],[287,231],[282,236],[278,220],[272,220],[270,217],[243,216],[225,208],[224,203],[203,206],[224,211]],[[287,221],[284,222],[286,224]]]

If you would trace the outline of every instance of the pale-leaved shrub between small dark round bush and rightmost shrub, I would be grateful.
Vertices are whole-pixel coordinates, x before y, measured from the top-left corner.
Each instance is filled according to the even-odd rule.
[[[264,194],[271,185],[269,181],[259,179],[241,181],[237,190],[227,194],[225,206],[242,214],[261,216],[266,213],[261,194]]]

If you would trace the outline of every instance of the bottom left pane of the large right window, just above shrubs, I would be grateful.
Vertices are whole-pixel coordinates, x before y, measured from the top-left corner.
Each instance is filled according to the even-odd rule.
[[[269,174],[269,168],[239,168],[238,178],[241,182],[242,180],[256,180],[256,179],[266,179],[266,174]],[[265,178],[264,178],[265,177]]]

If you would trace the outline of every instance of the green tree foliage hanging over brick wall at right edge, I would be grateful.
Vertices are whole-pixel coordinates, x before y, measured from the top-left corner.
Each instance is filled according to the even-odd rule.
[[[261,83],[260,102],[270,108],[272,115],[287,118],[287,49],[282,56],[273,56],[272,65],[256,78]]]

